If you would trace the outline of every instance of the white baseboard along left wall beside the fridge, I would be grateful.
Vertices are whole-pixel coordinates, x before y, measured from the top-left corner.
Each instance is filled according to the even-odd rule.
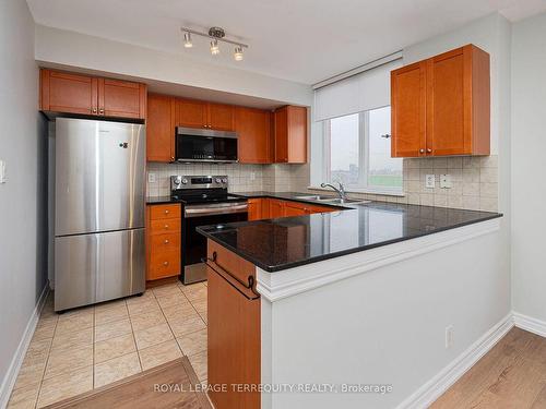
[[[23,337],[19,342],[19,347],[11,360],[10,368],[5,373],[5,377],[3,378],[2,385],[0,386],[0,408],[5,408],[8,406],[8,401],[10,399],[11,390],[15,385],[15,380],[17,378],[19,370],[21,369],[21,364],[23,363],[23,359],[25,358],[26,350],[28,349],[28,345],[31,344],[31,339],[34,335],[34,330],[36,329],[36,324],[38,324],[39,314],[46,304],[47,294],[49,293],[49,285],[46,284],[41,293],[39,296],[38,302],[34,308],[34,311],[28,318],[28,323],[26,324],[25,332],[23,333]]]

